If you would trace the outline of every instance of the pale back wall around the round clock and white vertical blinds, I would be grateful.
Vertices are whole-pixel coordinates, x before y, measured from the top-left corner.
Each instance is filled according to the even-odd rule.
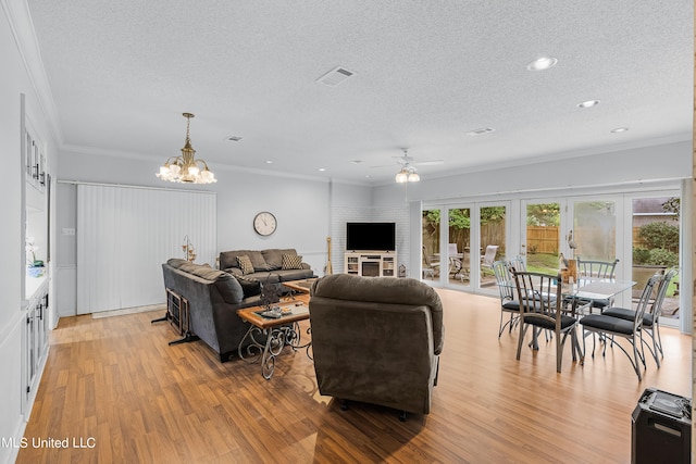
[[[58,171],[59,181],[83,181],[153,186],[215,191],[217,193],[217,250],[295,248],[315,275],[324,275],[327,259],[326,237],[332,230],[332,204],[371,208],[370,188],[337,185],[312,177],[268,175],[260,172],[211,165],[217,183],[185,186],[163,183],[154,176],[165,159],[149,160],[134,155],[127,162],[103,154],[64,152]],[[59,184],[57,192],[57,242],[60,252],[57,279],[59,314],[75,314],[75,237],[61,235],[63,228],[76,228],[75,187]],[[334,208],[335,209],[335,208]],[[252,220],[260,211],[270,211],[278,222],[270,237],[253,231]],[[79,234],[79,230],[76,230]],[[333,243],[332,243],[333,244]],[[332,253],[336,253],[333,248]],[[340,251],[343,254],[343,251]],[[335,255],[333,255],[335,256]],[[214,263],[210,263],[214,265]],[[334,266],[334,269],[336,267]]]

